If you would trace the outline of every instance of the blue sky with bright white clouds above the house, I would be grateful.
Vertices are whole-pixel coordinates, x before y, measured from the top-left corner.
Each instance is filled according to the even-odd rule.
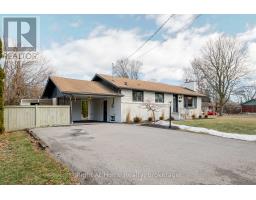
[[[112,63],[133,53],[168,16],[38,15],[41,52],[57,75],[90,80],[95,73],[111,74]],[[191,17],[171,19],[132,57],[143,62],[143,79],[181,84],[183,69],[207,40],[220,34],[248,42],[250,65],[256,71],[256,15],[201,15],[176,34]]]

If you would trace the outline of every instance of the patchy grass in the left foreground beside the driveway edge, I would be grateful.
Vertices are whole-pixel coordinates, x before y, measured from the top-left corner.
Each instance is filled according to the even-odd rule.
[[[77,184],[77,180],[19,131],[0,134],[0,184]]]

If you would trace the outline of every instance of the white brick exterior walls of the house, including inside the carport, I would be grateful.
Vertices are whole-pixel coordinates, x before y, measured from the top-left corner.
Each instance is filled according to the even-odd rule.
[[[156,120],[164,114],[165,119],[169,118],[170,101],[172,102],[173,111],[173,95],[165,93],[164,103],[155,103],[155,92],[144,91],[144,102],[133,102],[132,90],[122,89],[123,97],[112,98],[93,98],[89,101],[89,119],[96,121],[103,121],[103,101],[107,100],[107,121],[111,121],[111,116],[115,116],[115,122],[126,122],[128,113],[130,113],[130,120],[134,117],[141,117],[142,120],[147,120],[152,116],[152,112],[147,111],[145,103],[150,101],[156,104],[159,109],[155,113]],[[114,99],[114,104],[113,104]],[[189,118],[193,114],[198,117],[201,114],[201,98],[197,98],[196,109],[184,108],[184,96],[178,95],[178,113],[173,113],[175,119]]]

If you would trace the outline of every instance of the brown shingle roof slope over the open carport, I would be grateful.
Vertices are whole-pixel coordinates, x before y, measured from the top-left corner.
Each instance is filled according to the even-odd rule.
[[[85,81],[56,76],[51,76],[50,79],[63,93],[120,96],[120,94],[113,92],[111,89],[96,81]]]

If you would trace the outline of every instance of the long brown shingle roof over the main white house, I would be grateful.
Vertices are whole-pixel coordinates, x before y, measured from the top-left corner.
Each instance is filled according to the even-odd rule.
[[[128,78],[114,77],[104,74],[97,74],[96,76],[101,77],[102,79],[110,82],[114,86],[123,89],[136,89],[136,90],[146,90],[146,91],[156,91],[156,92],[165,92],[173,94],[184,94],[191,96],[204,96],[200,93],[192,91],[190,89],[173,86],[164,83],[142,81],[142,80],[132,80]]]

